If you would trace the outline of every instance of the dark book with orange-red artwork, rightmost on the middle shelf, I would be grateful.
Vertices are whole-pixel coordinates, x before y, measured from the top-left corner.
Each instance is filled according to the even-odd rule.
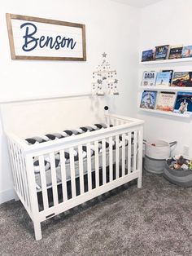
[[[175,72],[171,86],[192,87],[192,72]]]

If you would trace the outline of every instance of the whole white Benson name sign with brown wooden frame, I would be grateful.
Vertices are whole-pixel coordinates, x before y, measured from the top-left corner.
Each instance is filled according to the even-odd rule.
[[[86,60],[85,24],[6,16],[13,60]]]

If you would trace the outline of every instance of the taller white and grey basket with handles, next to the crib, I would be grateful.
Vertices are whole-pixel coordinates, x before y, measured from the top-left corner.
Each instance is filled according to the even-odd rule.
[[[168,143],[164,140],[144,140],[145,144],[145,161],[144,169],[155,173],[163,174],[166,159],[171,156],[172,147],[177,141]]]

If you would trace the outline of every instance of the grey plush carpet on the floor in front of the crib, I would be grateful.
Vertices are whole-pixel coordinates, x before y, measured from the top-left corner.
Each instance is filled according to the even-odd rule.
[[[0,205],[0,255],[192,255],[192,188],[144,172],[44,223],[35,241],[20,201]]]

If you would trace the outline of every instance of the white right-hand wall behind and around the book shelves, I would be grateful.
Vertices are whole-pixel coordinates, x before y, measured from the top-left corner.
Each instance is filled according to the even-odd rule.
[[[141,12],[140,55],[143,50],[152,49],[155,46],[170,44],[184,46],[192,45],[192,2],[191,0],[164,0]],[[139,69],[139,77],[146,70],[155,68],[170,68],[175,71],[191,71],[191,63],[164,64],[155,66],[142,66]],[[192,158],[192,122],[188,118],[168,117],[159,114],[139,112],[138,117],[146,121],[145,137],[165,139],[168,142],[177,140],[176,152],[183,153],[183,147],[190,147]]]

